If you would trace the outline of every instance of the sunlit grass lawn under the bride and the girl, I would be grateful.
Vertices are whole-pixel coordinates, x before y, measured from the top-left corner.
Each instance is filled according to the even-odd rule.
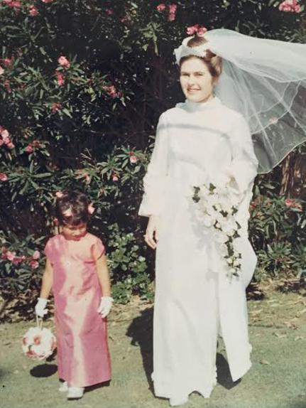
[[[21,337],[33,322],[0,328],[2,408],[163,408],[153,396],[151,304],[116,306],[109,318],[113,376],[110,385],[92,387],[78,401],[60,394],[56,360],[40,363],[21,352]],[[306,296],[272,291],[249,301],[251,370],[233,384],[222,343],[217,355],[218,385],[210,399],[194,393],[186,408],[306,408]],[[48,320],[45,326],[52,327]]]

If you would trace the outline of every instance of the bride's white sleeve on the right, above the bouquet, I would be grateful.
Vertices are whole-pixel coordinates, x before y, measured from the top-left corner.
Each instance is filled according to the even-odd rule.
[[[242,115],[235,120],[231,129],[232,159],[228,175],[234,178],[239,194],[244,194],[252,186],[257,174],[256,159],[251,132]]]

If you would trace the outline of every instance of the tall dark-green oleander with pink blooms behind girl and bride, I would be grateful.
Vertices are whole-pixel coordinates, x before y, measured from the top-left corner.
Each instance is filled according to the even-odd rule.
[[[149,296],[137,210],[150,135],[182,100],[173,48],[222,26],[305,42],[302,2],[1,0],[0,20],[2,295],[38,286],[55,193],[71,188],[96,208],[89,227],[108,247],[117,299]]]

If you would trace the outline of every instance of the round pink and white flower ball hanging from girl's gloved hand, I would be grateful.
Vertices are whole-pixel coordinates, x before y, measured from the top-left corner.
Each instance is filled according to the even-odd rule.
[[[48,328],[31,327],[22,338],[22,350],[28,358],[44,360],[56,348],[56,339]]]

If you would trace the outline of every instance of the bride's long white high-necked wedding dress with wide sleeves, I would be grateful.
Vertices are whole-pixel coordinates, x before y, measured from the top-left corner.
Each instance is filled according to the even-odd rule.
[[[152,375],[158,397],[185,399],[193,391],[209,397],[220,329],[232,379],[251,366],[245,288],[256,266],[247,224],[257,164],[244,118],[217,97],[186,101],[160,116],[139,209],[159,216]],[[242,198],[242,272],[231,281],[192,201],[192,186],[218,183],[227,171]]]

